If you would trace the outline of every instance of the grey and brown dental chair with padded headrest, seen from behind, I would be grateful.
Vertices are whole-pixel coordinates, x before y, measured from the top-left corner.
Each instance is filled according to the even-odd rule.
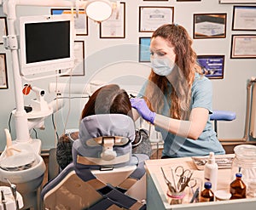
[[[131,155],[135,139],[130,116],[87,116],[73,142],[73,162],[44,185],[45,209],[146,209],[144,161]]]

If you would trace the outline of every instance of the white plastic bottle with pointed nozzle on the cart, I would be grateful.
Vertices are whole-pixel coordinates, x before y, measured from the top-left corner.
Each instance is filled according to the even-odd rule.
[[[210,152],[207,164],[205,165],[205,182],[212,183],[213,192],[217,190],[218,165],[215,162],[215,156],[213,152]]]

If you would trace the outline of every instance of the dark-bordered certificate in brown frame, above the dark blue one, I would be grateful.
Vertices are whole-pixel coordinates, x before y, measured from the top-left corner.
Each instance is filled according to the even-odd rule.
[[[194,14],[193,38],[225,38],[227,14]]]

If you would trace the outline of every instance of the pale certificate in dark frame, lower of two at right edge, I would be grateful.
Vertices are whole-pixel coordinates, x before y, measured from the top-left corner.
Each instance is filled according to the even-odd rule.
[[[231,37],[230,59],[255,59],[256,34],[236,34]]]

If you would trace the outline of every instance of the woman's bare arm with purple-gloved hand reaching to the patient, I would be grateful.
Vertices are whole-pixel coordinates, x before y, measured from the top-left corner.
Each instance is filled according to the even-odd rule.
[[[209,113],[205,108],[194,108],[191,111],[189,121],[182,121],[150,111],[144,99],[131,99],[131,106],[137,109],[144,120],[164,128],[170,133],[189,139],[198,139],[206,126]]]

